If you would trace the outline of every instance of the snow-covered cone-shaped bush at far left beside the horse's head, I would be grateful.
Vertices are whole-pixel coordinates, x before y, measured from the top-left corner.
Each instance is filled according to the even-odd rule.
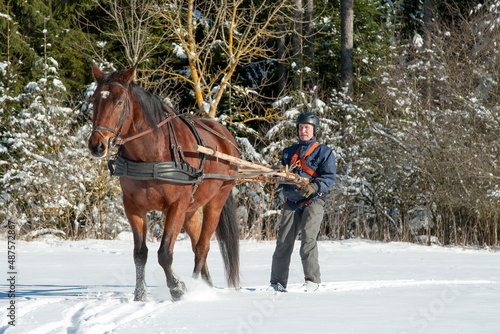
[[[63,106],[65,87],[54,59],[35,64],[43,73],[16,97],[1,133],[0,221],[17,224],[19,235],[58,231],[66,237],[109,238],[123,220],[112,218],[119,192],[105,163],[90,158],[78,108]],[[126,226],[126,225],[125,225]]]

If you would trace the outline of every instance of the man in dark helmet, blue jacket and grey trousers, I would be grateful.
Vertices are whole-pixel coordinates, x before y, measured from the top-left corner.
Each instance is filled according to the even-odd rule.
[[[306,177],[305,186],[282,185],[285,203],[271,267],[271,286],[286,292],[290,258],[295,239],[301,232],[300,257],[304,270],[304,290],[316,291],[321,283],[318,263],[318,237],[324,214],[324,199],[335,182],[335,155],[316,141],[319,118],[311,112],[299,115],[296,121],[299,143],[283,150],[281,163],[295,174]]]

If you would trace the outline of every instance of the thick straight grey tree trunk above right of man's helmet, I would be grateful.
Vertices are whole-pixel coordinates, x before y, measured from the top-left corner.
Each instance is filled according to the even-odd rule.
[[[353,84],[353,33],[354,33],[354,11],[353,0],[341,0],[341,30],[340,30],[340,80],[349,95],[352,95]]]

